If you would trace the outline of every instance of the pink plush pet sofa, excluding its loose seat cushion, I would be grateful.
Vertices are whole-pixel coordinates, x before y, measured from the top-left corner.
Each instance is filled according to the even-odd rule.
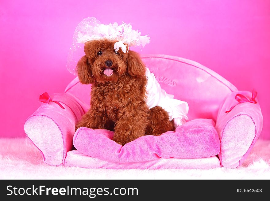
[[[203,158],[173,158],[156,154],[154,159],[137,162],[115,162],[83,154],[74,148],[76,138],[73,137],[76,122],[89,109],[91,85],[80,84],[76,77],[64,93],[51,95],[52,100],[58,101],[65,109],[52,101],[42,103],[25,122],[26,136],[40,150],[44,162],[52,166],[108,169],[209,169],[240,166],[260,135],[263,117],[257,99],[257,103],[239,103],[235,96],[242,94],[250,100],[252,93],[238,91],[222,76],[195,61],[168,55],[142,55],[141,58],[167,93],[187,101],[189,121],[213,120],[218,139],[217,152]],[[225,113],[232,106],[235,107]],[[207,146],[204,144],[204,147]]]

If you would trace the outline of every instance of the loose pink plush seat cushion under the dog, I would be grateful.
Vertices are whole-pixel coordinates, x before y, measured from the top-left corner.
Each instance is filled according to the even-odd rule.
[[[142,136],[119,145],[112,139],[114,132],[79,128],[73,138],[81,153],[110,162],[145,162],[159,158],[205,158],[220,151],[215,123],[211,119],[195,119],[161,136]]]

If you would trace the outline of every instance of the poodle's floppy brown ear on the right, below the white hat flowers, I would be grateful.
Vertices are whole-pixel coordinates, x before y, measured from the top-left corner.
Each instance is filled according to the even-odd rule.
[[[137,52],[129,51],[127,54],[127,67],[130,76],[145,75],[146,68]]]

